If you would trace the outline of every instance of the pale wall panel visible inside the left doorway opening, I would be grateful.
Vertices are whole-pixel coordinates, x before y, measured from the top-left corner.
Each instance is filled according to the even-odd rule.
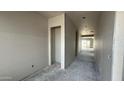
[[[61,28],[55,28],[55,59],[61,63]]]

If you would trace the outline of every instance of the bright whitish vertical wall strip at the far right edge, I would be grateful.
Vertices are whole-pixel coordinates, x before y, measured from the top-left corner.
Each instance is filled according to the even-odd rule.
[[[123,80],[124,62],[124,12],[116,12],[113,46],[112,80]]]

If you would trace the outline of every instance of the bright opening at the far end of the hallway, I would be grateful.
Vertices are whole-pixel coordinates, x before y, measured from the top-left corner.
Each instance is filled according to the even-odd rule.
[[[94,46],[94,35],[81,35],[79,59],[86,62],[94,62]]]

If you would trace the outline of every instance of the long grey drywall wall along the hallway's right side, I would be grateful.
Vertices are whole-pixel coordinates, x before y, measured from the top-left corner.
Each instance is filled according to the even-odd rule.
[[[115,12],[102,12],[99,19],[99,29],[96,32],[96,61],[101,80],[112,79],[114,19]]]

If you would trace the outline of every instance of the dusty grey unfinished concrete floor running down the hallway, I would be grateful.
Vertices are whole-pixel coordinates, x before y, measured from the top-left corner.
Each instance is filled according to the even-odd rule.
[[[66,69],[60,69],[59,64],[44,68],[31,75],[26,81],[96,81],[99,80],[95,70],[92,52],[83,51]]]

